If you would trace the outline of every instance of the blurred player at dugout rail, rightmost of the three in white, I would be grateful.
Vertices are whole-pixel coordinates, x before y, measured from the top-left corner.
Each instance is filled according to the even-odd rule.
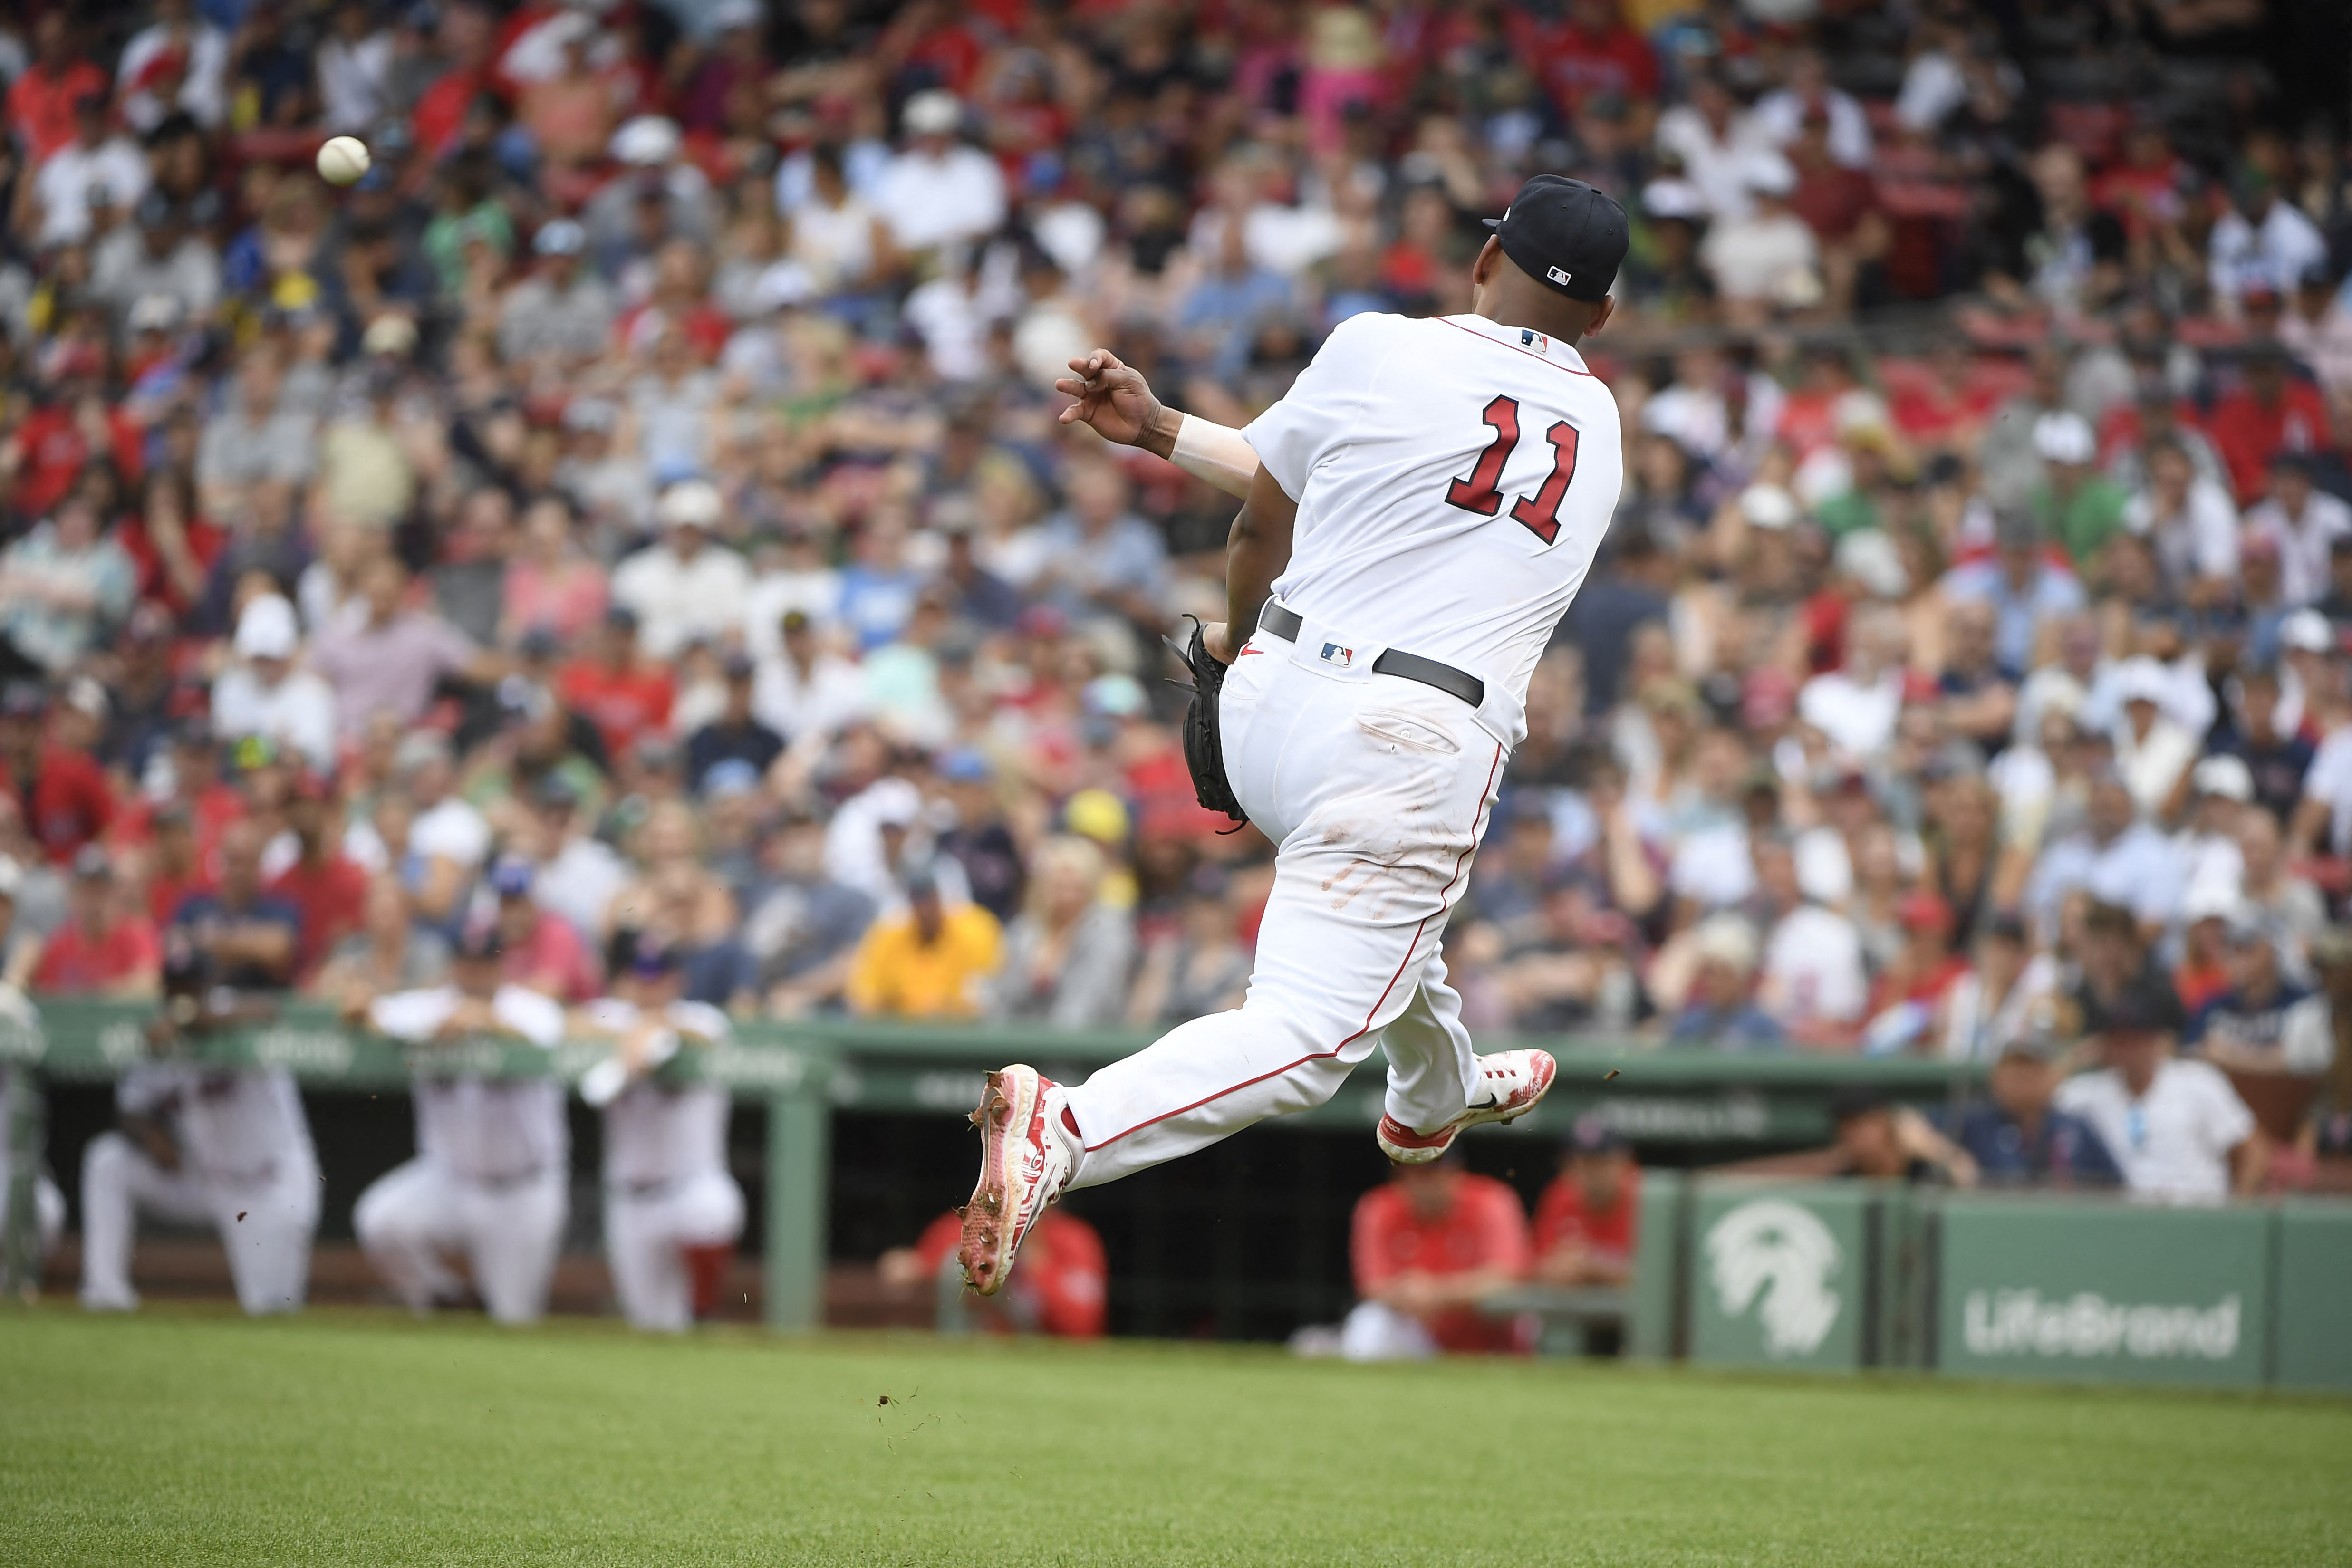
[[[727,1175],[727,1088],[656,1084],[682,1046],[724,1041],[727,1013],[684,999],[677,952],[637,931],[612,940],[612,994],[579,1011],[579,1034],[619,1053],[581,1079],[604,1112],[604,1258],[621,1316],[684,1333],[717,1300],[743,1234],[743,1190]]]

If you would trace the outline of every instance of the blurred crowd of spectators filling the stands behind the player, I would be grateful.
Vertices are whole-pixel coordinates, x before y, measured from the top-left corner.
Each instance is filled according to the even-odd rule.
[[[1446,940],[1482,1039],[2333,1072],[2345,19],[2279,0],[148,0],[0,31],[7,978],[1232,1006],[1157,639],[1242,423],[1635,219],[1628,491]],[[374,167],[336,190],[329,132]],[[2140,1025],[2136,1025],[2140,1027]],[[2039,1048],[2039,1046],[2037,1046]],[[2293,1112],[2300,1114],[2300,1112]]]

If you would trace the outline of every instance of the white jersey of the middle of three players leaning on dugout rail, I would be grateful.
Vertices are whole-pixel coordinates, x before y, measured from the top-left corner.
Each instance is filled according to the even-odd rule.
[[[369,1009],[369,1020],[393,1039],[423,1044],[456,1011],[454,985],[395,992]],[[564,1037],[564,1011],[522,985],[492,997],[501,1025],[541,1048]],[[572,1157],[564,1126],[564,1086],[555,1079],[416,1079],[416,1150],[452,1175],[508,1182],[560,1171]]]

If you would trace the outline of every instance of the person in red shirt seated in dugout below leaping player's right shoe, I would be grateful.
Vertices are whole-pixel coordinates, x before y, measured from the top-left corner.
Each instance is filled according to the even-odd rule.
[[[1526,1349],[1519,1319],[1477,1309],[1526,1279],[1526,1213],[1503,1182],[1454,1159],[1395,1166],[1357,1199],[1348,1255],[1362,1298],[1341,1328],[1350,1361]]]

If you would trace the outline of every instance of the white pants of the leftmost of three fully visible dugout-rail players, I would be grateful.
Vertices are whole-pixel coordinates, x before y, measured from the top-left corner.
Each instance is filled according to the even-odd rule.
[[[132,1241],[139,1215],[209,1222],[228,1253],[238,1305],[249,1314],[301,1312],[310,1293],[310,1234],[318,1229],[318,1168],[282,1159],[268,1180],[219,1182],[165,1171],[122,1133],[99,1133],[82,1150],[82,1305],[132,1312]]]

